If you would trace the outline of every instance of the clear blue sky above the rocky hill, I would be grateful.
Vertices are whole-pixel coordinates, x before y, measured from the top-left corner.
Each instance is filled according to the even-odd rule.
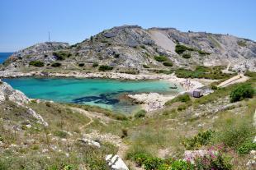
[[[75,44],[116,25],[174,27],[256,40],[254,0],[0,0],[0,52]]]

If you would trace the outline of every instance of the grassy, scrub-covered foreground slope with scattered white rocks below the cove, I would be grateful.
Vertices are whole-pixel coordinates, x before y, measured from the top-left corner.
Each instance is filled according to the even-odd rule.
[[[255,90],[255,73],[247,75],[245,83],[130,116],[27,99],[0,81],[0,168],[255,169],[255,95],[231,100],[240,87]]]

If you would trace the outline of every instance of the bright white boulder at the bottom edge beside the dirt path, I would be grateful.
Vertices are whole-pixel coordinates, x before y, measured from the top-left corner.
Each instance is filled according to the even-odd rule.
[[[129,170],[126,163],[118,155],[108,154],[106,161],[108,166],[113,170]]]

